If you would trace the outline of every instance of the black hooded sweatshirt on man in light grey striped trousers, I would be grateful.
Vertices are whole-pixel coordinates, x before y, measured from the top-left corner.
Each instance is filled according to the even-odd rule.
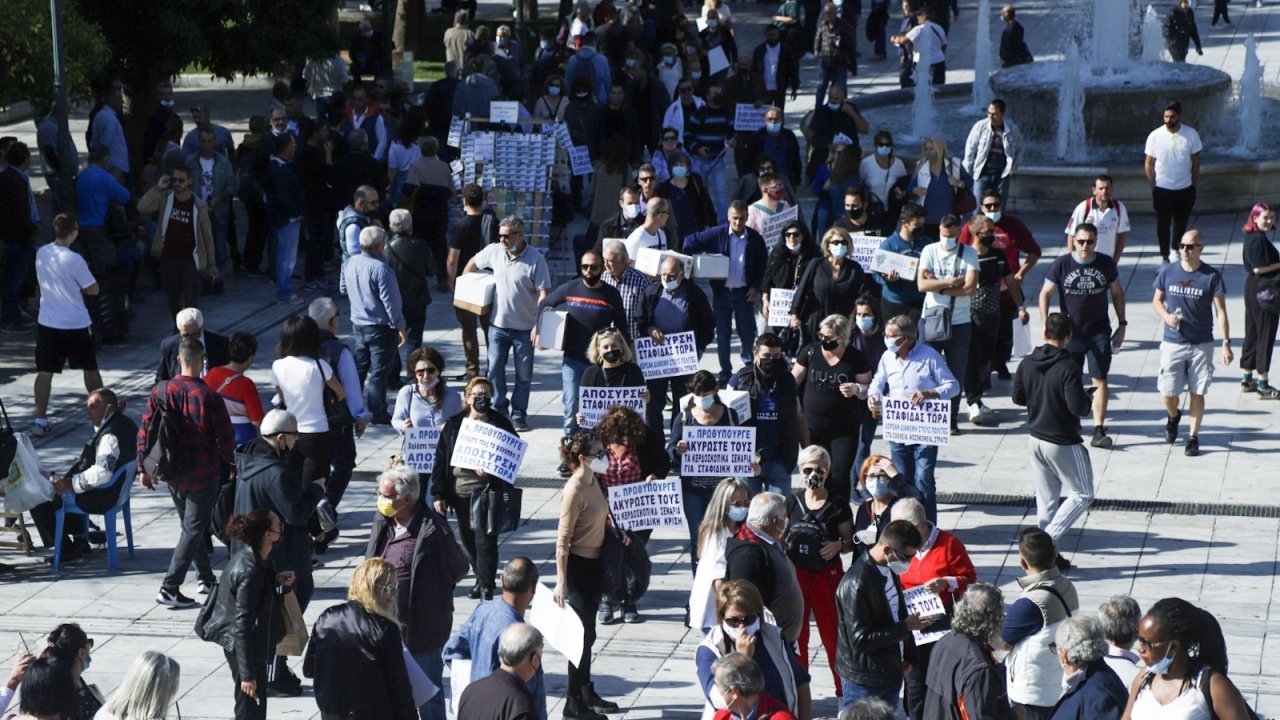
[[[1080,415],[1092,407],[1071,354],[1052,345],[1037,347],[1018,365],[1014,402],[1027,407],[1027,427],[1036,439],[1080,445]]]

